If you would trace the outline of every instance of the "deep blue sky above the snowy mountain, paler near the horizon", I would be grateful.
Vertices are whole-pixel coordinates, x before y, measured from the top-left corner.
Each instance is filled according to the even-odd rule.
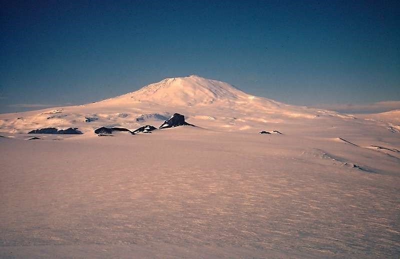
[[[3,1],[0,113],[197,74],[280,102],[400,109],[397,1]]]

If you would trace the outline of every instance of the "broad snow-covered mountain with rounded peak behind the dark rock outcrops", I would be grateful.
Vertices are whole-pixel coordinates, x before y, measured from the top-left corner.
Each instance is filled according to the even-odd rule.
[[[92,132],[101,126],[135,129],[158,126],[178,112],[205,128],[259,132],[280,123],[354,116],[279,103],[244,93],[232,85],[196,75],[166,78],[143,88],[102,101],[38,111],[0,115],[0,132],[26,133],[45,127],[77,127]]]

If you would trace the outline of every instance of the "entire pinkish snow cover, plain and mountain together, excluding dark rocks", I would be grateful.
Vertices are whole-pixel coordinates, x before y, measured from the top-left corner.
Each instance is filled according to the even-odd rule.
[[[199,127],[93,133],[174,112]],[[1,114],[0,258],[398,258],[399,118],[198,76]],[[84,134],[26,134],[44,127]]]

